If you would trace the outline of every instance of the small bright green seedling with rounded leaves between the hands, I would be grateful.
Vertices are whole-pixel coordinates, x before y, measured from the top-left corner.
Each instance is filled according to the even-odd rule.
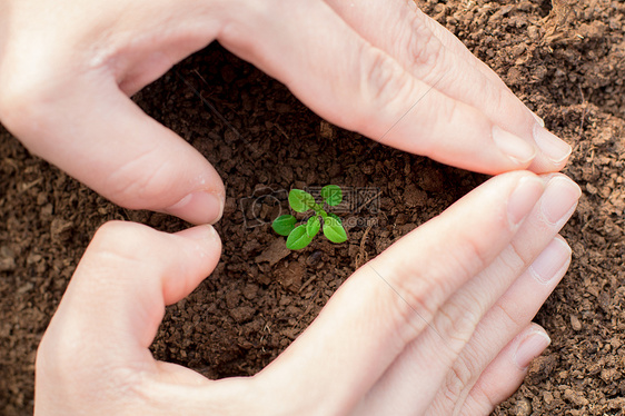
[[[343,201],[343,191],[337,185],[328,185],[321,188],[321,198],[330,206],[335,207]],[[343,221],[336,214],[326,212],[324,208],[315,201],[315,197],[301,189],[291,189],[289,192],[289,205],[296,212],[314,210],[315,215],[306,222],[296,227],[297,219],[290,214],[279,216],[274,220],[271,227],[280,236],[287,237],[287,248],[299,250],[308,246],[312,238],[321,229],[324,222],[324,236],[333,242],[344,242],[347,234],[343,228]]]

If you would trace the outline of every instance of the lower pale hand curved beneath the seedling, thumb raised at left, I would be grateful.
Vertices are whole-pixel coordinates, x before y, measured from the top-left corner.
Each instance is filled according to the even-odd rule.
[[[215,230],[105,225],[41,341],[36,414],[487,414],[549,344],[530,319],[568,267],[557,232],[579,195],[562,175],[490,179],[358,269],[258,375],[221,380],[148,350],[216,266]]]

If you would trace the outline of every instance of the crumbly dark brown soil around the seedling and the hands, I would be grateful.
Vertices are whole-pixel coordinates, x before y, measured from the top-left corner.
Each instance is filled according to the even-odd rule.
[[[584,189],[564,230],[573,265],[536,317],[553,344],[495,414],[623,414],[625,4],[419,3],[574,146],[566,174]],[[153,345],[157,358],[212,378],[266,366],[357,266],[484,179],[324,122],[279,82],[216,44],[136,100],[198,148],[227,187],[218,226],[222,261],[168,309]],[[37,345],[96,229],[111,219],[162,230],[185,224],[116,207],[30,156],[6,131],[0,136],[0,414],[11,416],[32,412]],[[258,221],[279,206],[270,197],[256,205],[249,198],[327,184],[366,188],[365,199],[373,197],[374,205],[355,217],[371,221],[353,224],[343,245],[317,238],[305,250],[284,250],[280,238]]]

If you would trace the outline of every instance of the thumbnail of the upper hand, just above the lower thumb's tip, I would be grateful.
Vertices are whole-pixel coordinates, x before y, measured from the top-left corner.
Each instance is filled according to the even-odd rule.
[[[163,211],[194,224],[215,224],[224,214],[224,199],[208,191],[195,191]]]

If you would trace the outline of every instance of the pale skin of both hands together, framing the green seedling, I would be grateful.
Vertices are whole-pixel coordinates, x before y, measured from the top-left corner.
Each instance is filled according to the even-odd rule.
[[[485,174],[555,172],[571,153],[405,0],[3,0],[0,121],[123,207],[215,222],[216,170],[129,99],[214,40],[398,149]],[[579,189],[534,174],[496,177],[397,241],[250,378],[208,380],[148,350],[165,306],[215,268],[214,229],[106,225],[41,341],[36,414],[486,414],[548,345],[530,319],[571,256],[557,232]]]

